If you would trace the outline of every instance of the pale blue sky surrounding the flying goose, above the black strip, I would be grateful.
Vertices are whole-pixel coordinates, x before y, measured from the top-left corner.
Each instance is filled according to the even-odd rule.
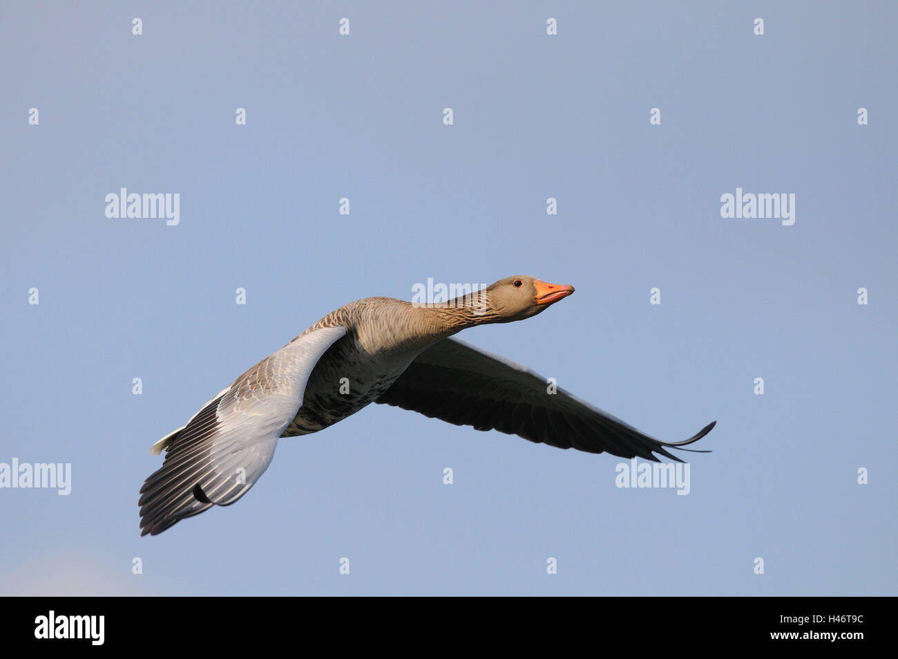
[[[0,3],[0,462],[73,481],[0,490],[0,593],[896,594],[896,24],[892,2]],[[180,225],[106,218],[123,187],[180,193]],[[737,187],[794,193],[794,226],[721,218]],[[577,292],[461,338],[660,439],[717,420],[690,494],[371,405],[140,537],[149,446],[255,361],[351,300],[512,274]]]

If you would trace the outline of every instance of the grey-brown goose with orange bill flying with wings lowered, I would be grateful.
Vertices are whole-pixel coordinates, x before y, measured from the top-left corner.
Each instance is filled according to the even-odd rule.
[[[536,316],[573,292],[515,276],[448,302],[365,298],[331,312],[153,445],[167,454],[140,490],[141,535],[234,503],[268,468],[278,438],[318,432],[370,403],[559,449],[681,461],[665,447],[698,441],[717,422],[685,441],[657,441],[561,388],[548,393],[521,364],[449,338]]]

